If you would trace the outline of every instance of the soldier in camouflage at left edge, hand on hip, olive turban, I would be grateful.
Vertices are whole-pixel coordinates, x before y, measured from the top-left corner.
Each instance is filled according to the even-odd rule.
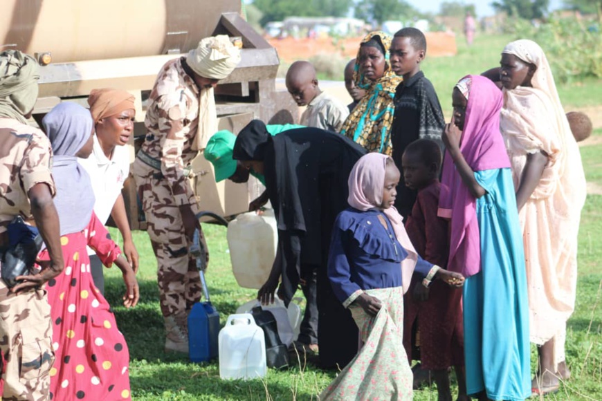
[[[15,216],[35,221],[51,261],[8,288],[0,279],[0,393],[3,400],[47,400],[52,348],[49,279],[64,268],[59,219],[53,204],[51,144],[24,115],[37,97],[37,63],[16,50],[0,53],[0,254]]]

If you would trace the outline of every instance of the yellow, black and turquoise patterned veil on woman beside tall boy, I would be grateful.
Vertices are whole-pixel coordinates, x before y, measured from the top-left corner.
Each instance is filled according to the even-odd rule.
[[[395,75],[389,61],[389,49],[392,37],[385,32],[370,32],[362,43],[371,39],[381,41],[385,48],[385,74],[380,80],[368,80],[360,72],[360,51],[354,67],[354,82],[359,88],[366,90],[366,95],[349,114],[340,133],[361,144],[367,151],[377,151],[391,155],[391,126],[393,123],[393,97],[397,85],[403,80]]]

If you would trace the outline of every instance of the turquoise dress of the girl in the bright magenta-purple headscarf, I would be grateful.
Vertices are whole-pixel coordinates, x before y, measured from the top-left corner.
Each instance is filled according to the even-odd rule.
[[[522,232],[510,169],[476,171],[481,271],[464,283],[468,394],[491,400],[531,396],[529,303]]]

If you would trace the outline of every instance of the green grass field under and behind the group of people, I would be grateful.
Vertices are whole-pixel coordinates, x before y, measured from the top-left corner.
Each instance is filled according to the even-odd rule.
[[[457,57],[429,59],[424,68],[435,84],[444,108],[450,109],[453,84],[466,73],[480,73],[498,65],[499,53],[510,37],[478,37],[470,49],[459,44]],[[600,82],[561,87],[561,97],[571,106],[601,102]],[[602,130],[595,136],[602,138]],[[597,142],[597,141],[596,141]],[[598,142],[599,143],[599,142]],[[602,144],[581,148],[587,179],[602,185]],[[207,279],[212,302],[221,313],[222,324],[237,306],[255,297],[254,290],[237,286],[230,268],[226,230],[204,225],[211,252]],[[116,231],[112,230],[113,236]],[[107,299],[131,354],[131,391],[135,400],[317,400],[317,395],[334,373],[311,366],[289,371],[270,370],[264,381],[222,381],[217,362],[192,364],[186,357],[163,352],[163,319],[158,308],[156,261],[145,232],[136,232],[141,255],[140,304],[132,310],[120,305],[124,286],[117,269],[105,270]],[[602,400],[602,196],[588,196],[579,235],[579,276],[576,310],[567,329],[567,362],[572,378],[548,400]],[[535,355],[533,348],[532,355]],[[534,358],[533,358],[534,364]],[[534,365],[533,365],[534,366]],[[455,391],[455,389],[454,389]],[[437,400],[435,386],[416,391],[418,401]]]

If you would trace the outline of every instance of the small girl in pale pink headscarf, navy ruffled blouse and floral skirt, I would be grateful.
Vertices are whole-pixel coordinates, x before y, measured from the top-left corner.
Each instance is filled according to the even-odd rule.
[[[414,269],[428,286],[435,277],[464,283],[419,257],[393,203],[400,173],[392,158],[363,156],[349,175],[351,207],[334,224],[328,277],[349,308],[364,343],[320,400],[411,400],[412,371],[403,348],[403,292]]]

